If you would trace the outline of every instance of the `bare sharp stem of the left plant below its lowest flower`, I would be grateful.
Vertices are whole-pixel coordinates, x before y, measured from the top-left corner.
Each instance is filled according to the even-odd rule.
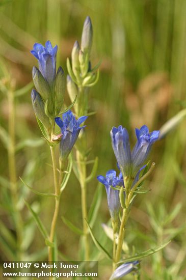
[[[49,241],[51,243],[54,242],[54,236],[55,236],[55,230],[56,230],[56,223],[58,219],[58,213],[59,213],[59,207],[60,207],[60,186],[58,185],[58,174],[57,174],[57,164],[56,164],[56,157],[55,157],[55,150],[54,147],[50,146],[50,152],[51,152],[51,159],[52,159],[52,166],[53,166],[53,174],[54,174],[54,188],[55,188],[55,211],[51,222],[51,228],[50,228],[50,235],[49,235]],[[53,260],[53,249],[51,246],[48,246],[48,261],[55,261]]]

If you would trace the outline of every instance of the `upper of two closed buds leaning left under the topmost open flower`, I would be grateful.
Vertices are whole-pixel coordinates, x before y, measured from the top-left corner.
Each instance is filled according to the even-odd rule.
[[[44,79],[39,69],[35,66],[32,69],[32,76],[36,90],[40,93],[42,99],[45,101],[50,94],[47,81]]]

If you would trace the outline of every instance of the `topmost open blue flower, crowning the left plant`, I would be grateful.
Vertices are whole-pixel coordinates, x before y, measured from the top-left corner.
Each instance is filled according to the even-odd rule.
[[[47,80],[50,87],[54,88],[56,77],[56,54],[58,46],[52,48],[50,41],[45,43],[45,47],[39,43],[35,43],[31,53],[37,58],[39,70],[43,77]]]

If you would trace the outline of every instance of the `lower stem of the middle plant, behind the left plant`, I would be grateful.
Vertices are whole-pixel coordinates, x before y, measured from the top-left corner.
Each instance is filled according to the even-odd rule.
[[[79,171],[79,182],[81,184],[82,191],[82,218],[83,218],[83,233],[85,238],[85,260],[89,261],[89,240],[88,240],[88,227],[87,227],[87,170],[85,164],[85,158],[79,151],[76,151],[77,165]]]

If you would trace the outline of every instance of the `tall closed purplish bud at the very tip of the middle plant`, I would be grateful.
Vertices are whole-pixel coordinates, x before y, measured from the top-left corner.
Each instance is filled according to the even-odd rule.
[[[93,30],[92,30],[92,22],[89,16],[86,17],[83,32],[82,32],[82,41],[81,41],[81,49],[85,53],[90,53],[93,39]]]

